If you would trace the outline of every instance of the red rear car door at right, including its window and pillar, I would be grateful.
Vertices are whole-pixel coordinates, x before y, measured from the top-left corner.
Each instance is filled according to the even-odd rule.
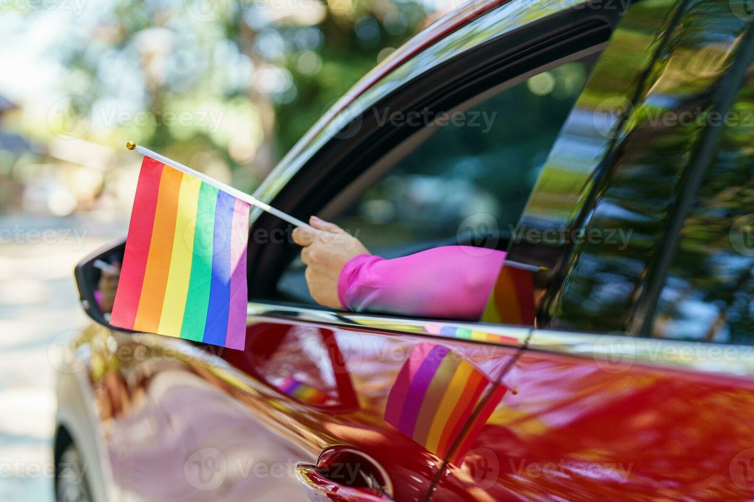
[[[438,491],[751,500],[747,12],[642,2],[618,26],[513,238],[540,270],[535,330]],[[605,78],[626,58],[643,66],[629,89]],[[487,314],[504,307],[493,295]]]

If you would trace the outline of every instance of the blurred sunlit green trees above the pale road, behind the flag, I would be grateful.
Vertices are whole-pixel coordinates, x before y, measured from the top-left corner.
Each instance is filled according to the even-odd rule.
[[[17,0],[0,8],[0,214],[124,218],[124,142],[251,191],[329,105],[460,2]]]

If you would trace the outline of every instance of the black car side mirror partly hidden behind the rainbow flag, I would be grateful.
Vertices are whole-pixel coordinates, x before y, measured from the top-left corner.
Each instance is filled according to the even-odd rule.
[[[81,307],[90,318],[107,327],[125,249],[125,238],[112,242],[78,262],[74,269]]]

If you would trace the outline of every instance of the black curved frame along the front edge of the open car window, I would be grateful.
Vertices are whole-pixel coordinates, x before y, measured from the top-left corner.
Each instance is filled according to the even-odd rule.
[[[503,86],[508,81],[527,75],[530,71],[605,44],[618,18],[615,11],[599,9],[566,10],[553,14],[544,20],[529,23],[521,29],[486,41],[472,50],[430,68],[421,74],[420,78],[415,78],[409,84],[389,93],[375,107],[391,111],[400,110],[403,113],[424,107],[438,112],[450,111],[464,102],[484,95],[494,87]],[[556,37],[555,41],[553,36]],[[480,67],[483,69],[480,70]],[[308,214],[324,205],[325,201],[332,199],[329,194],[339,193],[343,187],[350,184],[354,179],[354,170],[363,171],[364,168],[360,166],[372,166],[375,161],[385,157],[421,129],[408,125],[377,126],[367,123],[366,117],[360,120],[363,120],[362,126],[356,135],[345,140],[336,137],[324,145],[304,168],[280,187],[273,204],[290,214],[306,218]],[[348,127],[348,123],[345,123],[344,127]],[[274,183],[274,180],[271,183]],[[275,246],[254,245],[251,241],[254,232],[270,236],[273,231],[280,232],[284,229],[284,224],[267,214],[259,214],[256,221],[253,221],[250,230],[252,237],[248,270],[250,301],[254,303],[263,300],[265,303],[287,305],[284,302],[269,300],[274,298],[271,288],[274,288],[283,270],[273,263],[276,260],[278,263],[290,263],[297,251],[296,248],[289,247],[294,253],[288,251],[288,254],[285,254],[285,251],[281,252],[280,246],[276,249]],[[290,227],[287,230],[290,230]],[[265,272],[257,275],[260,270]]]

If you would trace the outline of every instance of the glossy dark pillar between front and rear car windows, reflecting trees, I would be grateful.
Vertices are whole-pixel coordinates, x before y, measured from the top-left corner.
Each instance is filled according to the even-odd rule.
[[[703,5],[670,28],[647,22],[675,19],[645,15],[667,8],[662,2],[638,2],[621,20],[513,238],[509,259],[538,267],[528,296],[516,298],[536,316],[522,323],[510,315],[504,269],[485,320],[642,333],[640,307],[657,280],[688,166],[701,162],[714,98],[727,90],[722,83],[749,28],[727,4]]]

